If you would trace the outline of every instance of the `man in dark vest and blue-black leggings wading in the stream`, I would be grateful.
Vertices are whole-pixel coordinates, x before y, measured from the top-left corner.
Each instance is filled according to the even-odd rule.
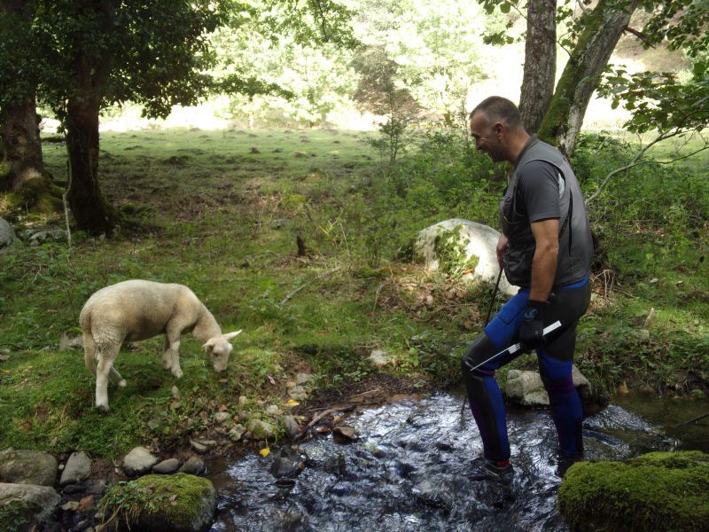
[[[517,106],[505,98],[487,98],[470,119],[476,149],[494,162],[507,160],[515,167],[500,202],[503,235],[497,242],[497,261],[520,290],[485,327],[462,363],[483,442],[483,456],[476,459],[471,478],[508,482],[514,473],[495,370],[518,354],[472,368],[518,341],[527,351],[534,348],[557,427],[560,464],[580,458],[582,412],[572,361],[576,324],[590,300],[593,245],[572,168],[556,148],[527,134]],[[542,329],[557,320],[563,328],[549,342],[542,340]]]

